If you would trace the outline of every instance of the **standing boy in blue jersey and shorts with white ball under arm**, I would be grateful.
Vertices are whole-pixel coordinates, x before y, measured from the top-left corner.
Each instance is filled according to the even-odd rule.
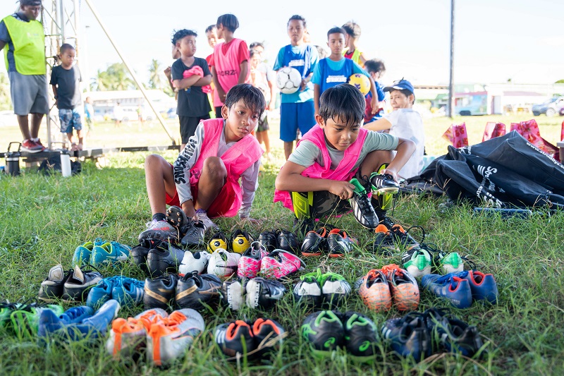
[[[284,142],[286,160],[292,154],[298,128],[302,135],[315,125],[313,85],[310,83],[319,57],[317,49],[304,42],[305,18],[294,15],[288,20],[290,44],[278,51],[274,71],[285,66],[297,69],[302,75],[300,90],[280,94],[280,139]]]

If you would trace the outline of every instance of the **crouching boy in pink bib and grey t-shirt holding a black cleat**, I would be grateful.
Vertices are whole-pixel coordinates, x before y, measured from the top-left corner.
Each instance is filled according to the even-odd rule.
[[[378,226],[374,196],[397,192],[397,171],[415,144],[362,128],[365,105],[360,91],[348,84],[321,95],[317,125],[298,142],[276,177],[274,202],[282,201],[299,221],[310,223],[352,207],[360,224]],[[397,150],[395,158],[391,150]],[[372,203],[367,198],[371,192],[376,193]]]

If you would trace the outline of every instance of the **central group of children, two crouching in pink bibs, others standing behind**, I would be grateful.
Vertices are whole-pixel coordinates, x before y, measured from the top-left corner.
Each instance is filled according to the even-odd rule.
[[[280,138],[287,162],[276,178],[274,201],[282,201],[302,221],[352,206],[361,224],[375,228],[385,223],[386,214],[377,193],[393,190],[399,178],[419,173],[412,174],[421,158],[412,154],[422,150],[424,138],[422,121],[411,109],[413,87],[407,80],[384,90],[379,87],[384,64],[365,59],[356,48],[360,28],[354,23],[329,30],[331,54],[321,60],[317,48],[304,42],[305,18],[292,16],[287,26],[290,44],[278,51],[274,71],[296,68],[302,83],[297,92],[281,94]],[[220,16],[215,29],[206,30],[214,53],[205,60],[194,57],[195,32],[180,30],[173,37],[173,54],[180,52],[171,78],[178,90],[178,115],[183,116],[183,149],[174,164],[157,155],[147,157],[145,173],[153,217],[140,240],[166,240],[176,233],[165,220],[166,205],[180,207],[206,229],[217,227],[212,218],[237,213],[255,222],[250,209],[264,153],[257,138],[264,140],[267,135],[264,112],[274,108],[276,92],[274,80],[267,76],[269,69],[260,68],[264,46],[255,44],[250,51],[245,41],[233,37],[238,27],[232,14]],[[353,73],[369,78],[367,97],[346,84]],[[209,119],[211,108],[203,89],[212,82],[216,119]],[[391,92],[391,104],[398,113],[379,119],[384,91]],[[186,105],[180,106],[181,99],[199,102],[198,106],[190,104],[199,111],[183,112]],[[257,138],[252,135],[255,129]],[[302,138],[293,150],[298,129]],[[268,138],[265,141],[268,152]],[[352,178],[360,183],[351,183]],[[373,189],[372,204],[365,205],[366,200],[359,197]],[[358,205],[364,207],[357,210]]]

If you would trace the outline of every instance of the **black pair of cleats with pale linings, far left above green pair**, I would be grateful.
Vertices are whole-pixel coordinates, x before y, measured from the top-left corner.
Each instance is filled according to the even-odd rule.
[[[64,301],[66,303],[84,302],[92,287],[102,281],[102,274],[92,270],[82,270],[78,265],[64,271],[61,264],[49,269],[47,278],[39,288],[39,300],[46,303]]]

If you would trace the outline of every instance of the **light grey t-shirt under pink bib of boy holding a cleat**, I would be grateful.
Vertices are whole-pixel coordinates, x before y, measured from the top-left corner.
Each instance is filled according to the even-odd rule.
[[[331,169],[337,168],[338,164],[341,163],[343,157],[345,157],[345,152],[333,149],[327,145],[325,141],[327,150],[329,151],[329,157],[331,158]],[[360,155],[358,156],[357,162],[355,163],[356,169],[362,164],[364,158],[369,152],[374,150],[394,150],[398,147],[398,138],[394,135],[389,135],[388,133],[377,133],[369,131],[364,139],[364,144],[362,144],[362,149],[360,150]],[[288,161],[300,166],[309,167],[315,162],[323,166],[323,154],[321,150],[313,143],[307,140],[300,142],[300,145],[295,148],[294,152],[290,154]]]

